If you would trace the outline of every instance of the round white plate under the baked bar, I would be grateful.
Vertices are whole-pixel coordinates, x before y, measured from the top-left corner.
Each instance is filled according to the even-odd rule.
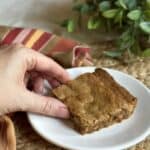
[[[93,72],[94,67],[67,69],[72,78],[85,72]],[[137,97],[138,103],[133,115],[120,124],[80,135],[69,121],[28,113],[32,127],[47,141],[72,150],[120,150],[128,148],[150,134],[150,91],[135,78],[106,69],[122,86]]]

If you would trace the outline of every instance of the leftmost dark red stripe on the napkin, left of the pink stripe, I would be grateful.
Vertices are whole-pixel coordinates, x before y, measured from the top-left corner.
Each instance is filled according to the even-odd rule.
[[[16,38],[16,36],[22,31],[22,28],[12,29],[6,37],[3,39],[2,44],[11,44],[11,42]]]

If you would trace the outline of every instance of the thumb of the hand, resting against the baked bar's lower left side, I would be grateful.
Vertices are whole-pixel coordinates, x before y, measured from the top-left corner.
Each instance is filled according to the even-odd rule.
[[[38,95],[31,91],[23,92],[23,108],[25,111],[44,114],[59,118],[69,118],[67,107],[59,100]]]

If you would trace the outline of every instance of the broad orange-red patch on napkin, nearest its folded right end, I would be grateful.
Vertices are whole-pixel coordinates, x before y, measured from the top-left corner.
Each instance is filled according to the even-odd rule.
[[[56,45],[52,48],[51,52],[55,53],[55,52],[66,52],[70,49],[72,49],[74,46],[77,45],[77,42],[74,40],[70,40],[70,39],[60,39],[58,41],[58,43],[56,43]]]

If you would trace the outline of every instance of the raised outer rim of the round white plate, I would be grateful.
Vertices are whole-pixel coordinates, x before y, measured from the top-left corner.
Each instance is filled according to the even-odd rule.
[[[149,88],[148,88],[147,86],[145,86],[140,80],[134,78],[133,76],[131,76],[131,75],[127,74],[127,73],[124,73],[124,72],[122,72],[122,71],[119,71],[119,70],[117,70],[117,69],[105,68],[105,67],[95,67],[95,66],[89,67],[89,66],[87,66],[87,67],[66,68],[66,70],[74,70],[74,69],[95,69],[95,68],[102,68],[102,69],[104,69],[104,70],[106,70],[106,71],[113,71],[113,72],[117,72],[117,73],[119,73],[119,74],[121,74],[121,75],[125,75],[125,76],[127,76],[128,78],[130,78],[130,79],[132,79],[132,80],[138,82],[138,84],[140,84],[140,86],[142,86],[142,88],[144,88],[144,89],[150,94]],[[34,124],[32,124],[32,119],[31,119],[32,115],[33,115],[33,113],[27,112],[27,118],[28,118],[28,120],[29,120],[30,125],[32,126],[33,130],[34,130],[35,132],[37,132],[37,133],[38,133],[42,138],[44,138],[46,141],[52,142],[53,144],[55,144],[55,145],[57,145],[57,146],[60,146],[60,147],[63,147],[63,148],[67,148],[67,149],[71,149],[71,150],[81,150],[81,148],[78,147],[78,146],[76,146],[75,148],[71,148],[71,145],[70,145],[70,144],[64,145],[63,142],[61,142],[61,141],[58,142],[58,141],[56,141],[56,140],[53,140],[53,138],[49,139],[49,138],[45,137],[39,130],[36,129],[36,127],[34,126]],[[121,145],[119,145],[119,146],[114,146],[114,147],[112,147],[112,148],[102,148],[102,150],[121,150],[121,149],[126,149],[126,148],[129,148],[129,147],[131,147],[131,146],[133,146],[133,145],[136,145],[137,143],[141,142],[142,140],[144,140],[144,139],[145,139],[147,136],[149,136],[149,135],[150,135],[150,125],[149,125],[149,127],[147,128],[147,130],[146,130],[143,134],[141,134],[141,136],[138,136],[137,138],[134,138],[132,141],[126,142],[126,143],[121,144]],[[87,147],[85,147],[85,148],[82,147],[82,150],[89,150],[89,149],[87,149]],[[93,150],[101,150],[101,148],[93,148]]]

